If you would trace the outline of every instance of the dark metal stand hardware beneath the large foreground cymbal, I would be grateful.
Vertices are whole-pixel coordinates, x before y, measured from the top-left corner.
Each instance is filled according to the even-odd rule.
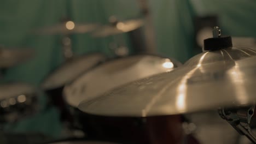
[[[218,113],[225,119],[240,135],[245,135],[250,141],[256,143],[256,135],[252,133],[249,125],[254,114],[255,105],[239,106],[236,109],[220,107]]]

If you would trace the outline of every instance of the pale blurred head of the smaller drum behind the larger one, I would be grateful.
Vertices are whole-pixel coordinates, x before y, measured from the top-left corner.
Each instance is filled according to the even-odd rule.
[[[101,53],[70,59],[44,80],[42,88],[49,90],[64,86],[105,59]]]

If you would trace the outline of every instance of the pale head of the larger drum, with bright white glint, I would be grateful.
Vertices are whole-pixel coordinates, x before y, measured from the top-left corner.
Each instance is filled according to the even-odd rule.
[[[172,59],[153,55],[137,55],[115,59],[88,71],[71,85],[64,88],[67,103],[74,107],[84,99],[90,99],[124,85],[154,74],[171,71],[180,65]]]

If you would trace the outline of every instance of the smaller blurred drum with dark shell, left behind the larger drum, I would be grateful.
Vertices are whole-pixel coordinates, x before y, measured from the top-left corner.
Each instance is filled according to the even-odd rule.
[[[63,87],[79,77],[85,71],[106,60],[102,53],[86,54],[68,59],[59,68],[53,71],[42,83],[42,89],[49,96],[50,104],[57,106],[61,111],[61,120],[70,119],[65,101],[62,97]]]

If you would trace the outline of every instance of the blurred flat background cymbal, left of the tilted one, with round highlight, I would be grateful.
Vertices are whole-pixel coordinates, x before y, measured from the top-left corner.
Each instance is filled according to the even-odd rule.
[[[94,31],[98,25],[94,23],[75,23],[67,21],[54,26],[39,28],[33,31],[35,34],[73,34],[73,33],[89,33]]]

